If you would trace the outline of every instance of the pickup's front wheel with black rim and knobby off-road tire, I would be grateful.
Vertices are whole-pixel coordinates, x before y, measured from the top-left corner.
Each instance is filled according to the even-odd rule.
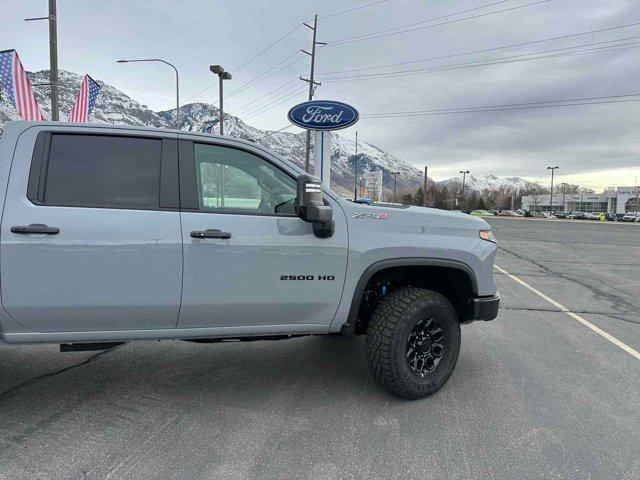
[[[389,294],[367,329],[367,360],[391,393],[415,400],[442,387],[458,360],[460,323],[451,302],[422,288]]]

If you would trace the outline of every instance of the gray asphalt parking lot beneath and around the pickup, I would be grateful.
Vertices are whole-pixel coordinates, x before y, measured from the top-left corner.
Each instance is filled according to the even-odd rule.
[[[0,349],[0,478],[640,478],[640,225],[493,218],[496,320],[407,402],[362,338]],[[5,392],[5,393],[1,393]]]

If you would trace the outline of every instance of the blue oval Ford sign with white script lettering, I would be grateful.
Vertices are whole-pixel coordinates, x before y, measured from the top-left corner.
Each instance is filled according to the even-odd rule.
[[[358,111],[350,105],[331,100],[312,100],[289,110],[289,121],[307,130],[340,130],[358,121]]]

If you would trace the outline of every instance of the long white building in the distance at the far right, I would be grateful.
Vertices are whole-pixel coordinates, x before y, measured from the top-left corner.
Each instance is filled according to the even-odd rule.
[[[542,212],[603,212],[626,213],[640,211],[639,187],[617,187],[604,193],[555,192],[553,205],[551,195],[525,195],[522,209]]]

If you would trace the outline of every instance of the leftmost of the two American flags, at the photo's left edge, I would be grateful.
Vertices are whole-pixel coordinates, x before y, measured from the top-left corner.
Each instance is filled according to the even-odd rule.
[[[31,82],[15,50],[0,52],[0,86],[9,93],[13,106],[25,120],[43,120]]]

